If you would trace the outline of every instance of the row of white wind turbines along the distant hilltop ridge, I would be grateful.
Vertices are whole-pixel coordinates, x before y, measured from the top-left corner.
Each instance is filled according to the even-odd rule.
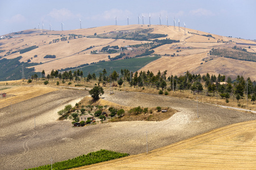
[[[138,24],[140,24],[140,19],[142,19],[142,24],[144,25],[144,15],[142,14],[142,16],[141,16],[142,18],[140,18],[140,14],[138,15]],[[117,25],[117,16],[115,16],[114,17],[115,18],[115,21],[116,21],[116,25]],[[129,17],[127,16],[127,25],[129,25]],[[149,25],[151,25],[151,14],[149,14]],[[80,22],[80,29],[82,29],[82,20],[81,19],[79,19],[79,22]],[[160,14],[160,16],[159,16],[159,24],[160,25],[162,25],[162,17],[161,17],[161,14]],[[174,25],[174,29],[176,29],[175,28],[175,23],[176,23],[176,21],[175,21],[175,17],[174,17],[174,19],[173,19],[173,25]],[[64,23],[61,23],[61,31],[63,31],[63,25],[64,25]],[[166,25],[167,25],[167,27],[169,26],[169,24],[168,24],[168,16],[166,15]],[[51,27],[52,27],[52,24],[50,23],[49,24],[49,26],[50,26],[50,31],[52,31],[51,30]],[[178,20],[178,27],[179,27],[179,20]],[[41,32],[43,32],[43,29],[44,29],[44,22],[42,23],[42,29],[41,29]],[[39,30],[39,32],[40,32],[40,23],[38,24],[38,30]],[[181,29],[179,28],[179,31],[181,31]],[[185,24],[185,22],[184,22],[184,34],[186,35],[186,24]]]

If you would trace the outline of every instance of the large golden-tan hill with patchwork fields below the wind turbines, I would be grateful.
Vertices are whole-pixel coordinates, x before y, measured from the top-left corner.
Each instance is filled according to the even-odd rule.
[[[14,59],[22,56],[18,58],[20,65],[22,62],[32,63],[31,66],[24,65],[25,72],[26,69],[32,69],[35,72],[45,70],[48,74],[52,69],[93,65],[102,61],[112,62],[111,58],[120,53],[125,53],[125,56],[121,56],[119,60],[133,58],[151,48],[154,53],[150,56],[158,54],[161,58],[156,58],[144,65],[140,64],[137,70],[150,70],[153,73],[157,73],[158,70],[167,70],[167,76],[181,75],[188,70],[194,74],[224,74],[232,79],[242,75],[256,80],[255,62],[209,54],[212,48],[231,49],[233,46],[246,49],[248,53],[255,53],[256,42],[213,35],[189,28],[186,29],[185,34],[182,27],[179,30],[166,25],[108,25],[69,31],[29,29],[5,36],[6,39],[0,40],[0,61],[4,58]],[[166,39],[175,41],[163,42]],[[106,46],[111,48],[116,45],[119,49],[123,47],[123,50],[117,50],[114,53],[101,51]],[[31,46],[38,48],[30,50]],[[129,48],[125,49],[125,46]],[[20,50],[25,52],[22,53]],[[45,58],[47,55],[56,57]],[[6,69],[6,65],[1,65],[1,62],[0,67]],[[5,74],[6,76],[1,75],[0,79],[12,80],[18,79],[19,76],[21,78],[21,70],[15,70],[15,73],[10,71]],[[31,71],[27,72],[26,78],[33,74]],[[84,73],[84,75],[87,74]]]

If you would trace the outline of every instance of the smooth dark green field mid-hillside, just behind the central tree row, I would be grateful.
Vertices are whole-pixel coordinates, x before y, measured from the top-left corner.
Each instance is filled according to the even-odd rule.
[[[118,73],[121,72],[121,69],[128,69],[130,71],[137,71],[147,65],[148,63],[160,58],[159,56],[156,57],[141,57],[141,58],[129,58],[129,59],[120,59],[116,61],[108,61],[108,62],[101,62],[96,63],[95,65],[89,65],[83,67],[83,73],[95,73],[97,76],[99,73],[102,73],[104,69],[110,70],[112,67],[112,71],[116,70]]]

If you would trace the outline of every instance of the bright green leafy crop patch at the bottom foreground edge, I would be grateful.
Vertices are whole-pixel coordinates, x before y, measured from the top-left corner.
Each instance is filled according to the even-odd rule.
[[[105,162],[108,160],[113,160],[117,158],[123,158],[124,156],[129,156],[129,154],[108,151],[108,150],[100,150],[96,152],[90,152],[87,155],[81,155],[73,159],[64,160],[62,162],[56,162],[52,164],[52,169],[71,169],[76,167],[82,167],[85,165],[91,165],[95,163]],[[39,169],[51,169],[51,164],[43,165],[37,168],[31,168],[31,170],[39,170]],[[28,169],[25,169],[28,170]]]

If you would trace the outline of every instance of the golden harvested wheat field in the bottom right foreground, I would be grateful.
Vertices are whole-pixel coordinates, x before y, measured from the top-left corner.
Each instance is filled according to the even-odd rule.
[[[74,169],[255,169],[255,136],[256,121],[240,122],[148,154]]]

